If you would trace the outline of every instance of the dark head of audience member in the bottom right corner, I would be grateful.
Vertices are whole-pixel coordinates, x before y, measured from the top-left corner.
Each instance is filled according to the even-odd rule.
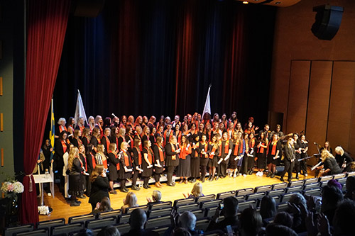
[[[355,219],[354,201],[351,200],[342,201],[342,203],[340,203],[339,206],[337,207],[337,210],[335,210],[335,214],[334,214],[334,220],[333,220],[334,235],[355,235],[354,219]]]

